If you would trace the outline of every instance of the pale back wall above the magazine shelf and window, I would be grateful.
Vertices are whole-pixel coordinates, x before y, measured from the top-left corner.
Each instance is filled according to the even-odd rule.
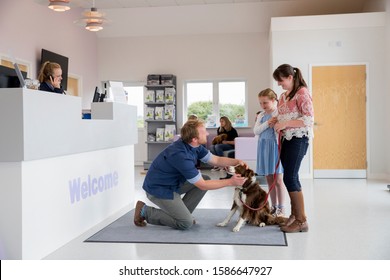
[[[187,79],[247,80],[249,120],[259,108],[257,93],[269,86],[268,33],[100,38],[98,53],[101,80],[135,82],[146,81],[148,74],[175,74],[179,125]]]

